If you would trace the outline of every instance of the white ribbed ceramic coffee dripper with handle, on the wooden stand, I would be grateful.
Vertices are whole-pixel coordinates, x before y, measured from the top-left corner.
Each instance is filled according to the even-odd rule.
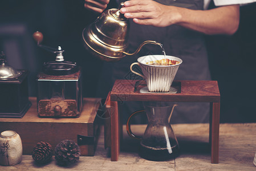
[[[179,63],[171,66],[147,64],[148,62],[161,60],[161,59],[176,60]],[[182,63],[180,58],[174,56],[164,55],[148,55],[142,56],[137,59],[138,62],[132,63],[130,70],[137,75],[143,77],[147,83],[148,90],[150,92],[169,92],[173,79],[177,73],[178,67]],[[133,71],[132,66],[137,64],[140,66],[143,75],[136,71]]]

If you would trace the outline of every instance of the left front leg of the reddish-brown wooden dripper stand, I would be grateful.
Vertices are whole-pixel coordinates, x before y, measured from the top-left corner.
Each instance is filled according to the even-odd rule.
[[[117,161],[120,153],[120,123],[117,101],[111,101],[111,161]]]

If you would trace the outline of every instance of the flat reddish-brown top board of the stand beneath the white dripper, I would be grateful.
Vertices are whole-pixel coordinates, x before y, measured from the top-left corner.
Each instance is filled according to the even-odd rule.
[[[172,87],[177,93],[140,93],[144,81],[116,80],[111,91],[112,101],[181,101],[220,102],[217,81],[176,81]]]

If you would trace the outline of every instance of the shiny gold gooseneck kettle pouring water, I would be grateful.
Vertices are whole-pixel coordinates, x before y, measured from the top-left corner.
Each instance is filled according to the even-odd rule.
[[[126,55],[135,55],[141,48],[148,43],[157,44],[162,47],[161,43],[147,40],[140,44],[135,52],[129,54],[128,32],[129,21],[120,13],[124,3],[120,3],[119,9],[109,9],[104,11],[94,23],[91,23],[83,30],[84,47],[94,56],[113,62],[120,60]]]

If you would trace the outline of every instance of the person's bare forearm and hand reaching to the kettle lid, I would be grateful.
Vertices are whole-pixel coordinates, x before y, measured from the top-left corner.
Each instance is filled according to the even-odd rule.
[[[151,0],[126,1],[121,13],[140,25],[165,27],[180,25],[204,34],[234,34],[239,25],[239,5],[212,10],[190,10],[166,6]]]

